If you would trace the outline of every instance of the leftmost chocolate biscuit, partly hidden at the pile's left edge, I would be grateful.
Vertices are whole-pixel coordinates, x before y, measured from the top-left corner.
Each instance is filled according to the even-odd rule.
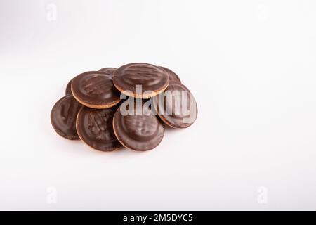
[[[82,105],[68,95],[60,98],[51,110],[51,124],[55,131],[66,139],[77,140],[76,118]]]

